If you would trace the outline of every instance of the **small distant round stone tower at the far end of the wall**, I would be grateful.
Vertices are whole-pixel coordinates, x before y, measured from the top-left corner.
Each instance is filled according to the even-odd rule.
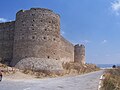
[[[85,64],[85,46],[84,45],[77,44],[74,46],[74,61]]]

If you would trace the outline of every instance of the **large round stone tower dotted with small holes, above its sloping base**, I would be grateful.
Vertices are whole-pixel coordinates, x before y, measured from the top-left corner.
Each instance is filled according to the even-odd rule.
[[[59,60],[60,17],[44,8],[16,14],[12,66],[28,57]]]

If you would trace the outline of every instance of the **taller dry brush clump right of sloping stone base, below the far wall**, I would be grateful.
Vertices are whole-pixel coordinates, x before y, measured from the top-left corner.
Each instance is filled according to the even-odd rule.
[[[73,62],[63,64],[63,68],[65,70],[64,74],[70,74],[70,75],[78,75],[78,74],[84,74],[84,73],[100,70],[94,64],[83,65],[80,63],[73,63]]]

